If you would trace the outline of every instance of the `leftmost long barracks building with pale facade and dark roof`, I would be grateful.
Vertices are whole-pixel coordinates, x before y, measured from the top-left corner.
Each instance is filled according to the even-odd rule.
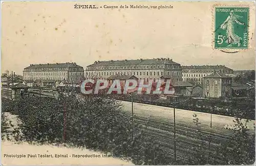
[[[84,69],[76,63],[30,64],[23,70],[24,80],[66,80],[80,83],[84,79]]]

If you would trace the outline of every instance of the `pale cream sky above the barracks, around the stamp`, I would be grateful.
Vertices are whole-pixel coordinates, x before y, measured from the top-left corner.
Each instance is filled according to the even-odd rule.
[[[170,58],[181,65],[255,68],[255,4],[249,49],[212,49],[212,6],[217,2],[2,2],[1,72],[23,74],[30,64]],[[74,5],[102,6],[75,9]],[[220,3],[218,3],[220,5]],[[172,5],[173,9],[105,9],[103,5]]]

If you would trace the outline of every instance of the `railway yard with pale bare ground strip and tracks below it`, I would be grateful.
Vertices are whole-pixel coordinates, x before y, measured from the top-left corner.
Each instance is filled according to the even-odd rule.
[[[34,94],[38,95],[38,90],[34,90]],[[6,91],[2,91],[2,96],[6,96]],[[55,97],[53,92],[42,92],[41,95],[48,97]],[[204,112],[196,112],[183,109],[175,109],[175,128],[174,128],[174,108],[161,107],[155,105],[132,103],[120,101],[122,110],[128,116],[132,117],[133,122],[141,124],[145,128],[140,131],[145,138],[152,139],[158,143],[167,154],[182,159],[188,159],[189,156],[194,155],[195,147],[201,147],[206,155],[214,157],[217,160],[222,160],[212,151],[215,148],[226,145],[232,130],[226,129],[227,126],[234,125],[234,117],[223,116],[217,114],[210,114]],[[133,107],[133,108],[132,108]],[[200,122],[200,132],[194,123],[194,114]],[[246,120],[242,120],[245,122]],[[211,122],[211,127],[210,127]],[[247,127],[250,133],[254,132],[254,120],[249,120]],[[174,134],[175,130],[175,134]],[[176,137],[176,139],[175,139]],[[232,143],[231,143],[232,144]],[[176,145],[176,148],[175,146]],[[232,161],[236,163],[235,159]]]

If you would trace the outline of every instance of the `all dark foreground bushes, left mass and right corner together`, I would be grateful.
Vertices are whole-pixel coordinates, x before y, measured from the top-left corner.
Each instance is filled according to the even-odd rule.
[[[234,131],[233,137],[221,148],[211,150],[210,153],[214,151],[215,155],[209,155],[198,146],[188,159],[177,157],[175,161],[173,153],[166,152],[162,144],[154,141],[154,136],[143,133],[147,126],[132,122],[131,116],[123,114],[120,103],[113,99],[91,96],[81,100],[61,93],[58,99],[2,99],[2,111],[18,115],[23,122],[20,126],[22,134],[14,131],[16,140],[86,147],[120,155],[135,164],[252,164],[255,156],[254,135],[247,133],[239,119],[236,119],[237,127],[241,129]],[[3,118],[1,125],[2,132],[5,132],[3,129],[7,123]],[[199,120],[196,116],[194,118],[200,134]],[[229,145],[229,142],[235,144]]]

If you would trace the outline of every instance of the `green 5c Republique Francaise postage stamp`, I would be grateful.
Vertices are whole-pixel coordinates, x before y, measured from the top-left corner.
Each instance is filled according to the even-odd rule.
[[[248,7],[215,7],[215,49],[248,49]]]

